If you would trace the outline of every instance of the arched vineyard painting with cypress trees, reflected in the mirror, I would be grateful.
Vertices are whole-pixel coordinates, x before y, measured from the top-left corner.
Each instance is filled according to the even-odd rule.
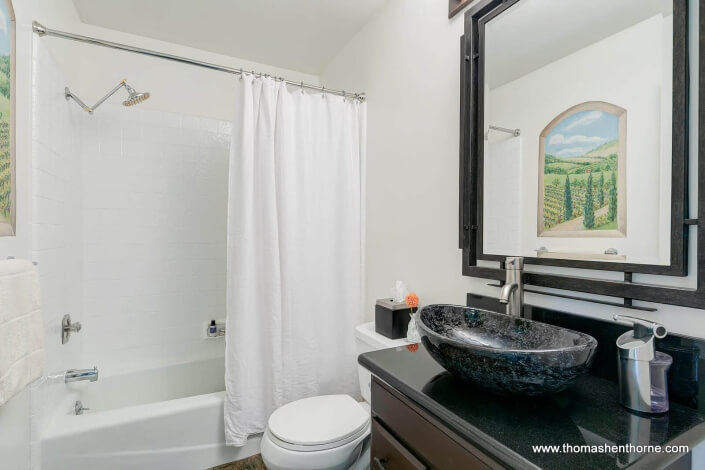
[[[626,236],[626,131],[626,110],[591,101],[541,132],[539,236]]]

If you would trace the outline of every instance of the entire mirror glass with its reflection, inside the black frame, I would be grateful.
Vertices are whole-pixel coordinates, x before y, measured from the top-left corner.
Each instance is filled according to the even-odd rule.
[[[672,0],[522,0],[484,52],[483,253],[668,265]]]

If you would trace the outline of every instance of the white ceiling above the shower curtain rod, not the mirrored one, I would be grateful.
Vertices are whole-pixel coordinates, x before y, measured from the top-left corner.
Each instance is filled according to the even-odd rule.
[[[84,23],[318,74],[387,0],[73,0]]]

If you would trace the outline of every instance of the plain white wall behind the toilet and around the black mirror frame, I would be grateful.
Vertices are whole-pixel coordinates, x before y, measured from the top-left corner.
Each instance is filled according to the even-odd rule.
[[[369,97],[368,318],[374,299],[388,295],[395,279],[407,281],[422,304],[464,303],[467,292],[498,295],[496,288],[487,286],[488,280],[461,275],[457,248],[462,33],[463,15],[448,20],[445,5],[431,0],[390,0],[321,75],[327,85],[365,91]],[[693,69],[697,71],[697,66]],[[691,112],[696,107],[691,105]],[[694,139],[697,133],[693,134]],[[691,142],[691,152],[696,151]],[[676,285],[690,282],[635,278]],[[526,301],[603,319],[620,310],[535,294],[527,294]],[[639,315],[658,319],[673,332],[705,337],[701,310],[657,307],[658,312]]]

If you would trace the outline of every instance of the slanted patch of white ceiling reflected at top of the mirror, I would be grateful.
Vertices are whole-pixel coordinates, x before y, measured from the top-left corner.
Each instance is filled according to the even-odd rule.
[[[487,23],[490,89],[504,85],[656,14],[673,0],[524,0]]]

